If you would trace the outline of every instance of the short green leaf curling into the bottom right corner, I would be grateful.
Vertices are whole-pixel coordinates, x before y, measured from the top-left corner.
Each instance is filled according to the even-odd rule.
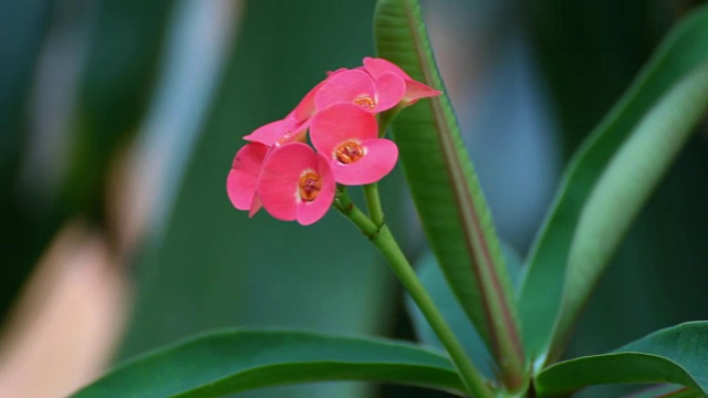
[[[543,369],[535,379],[539,397],[623,383],[670,383],[708,396],[708,322],[669,327],[611,354],[581,357]]]

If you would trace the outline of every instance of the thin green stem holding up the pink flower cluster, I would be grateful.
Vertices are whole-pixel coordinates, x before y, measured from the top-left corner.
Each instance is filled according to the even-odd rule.
[[[479,370],[470,362],[450,326],[447,324],[433,298],[420,283],[413,266],[400,250],[391,230],[385,224],[377,227],[351,201],[346,190],[337,190],[334,207],[356,224],[362,232],[374,243],[378,251],[386,258],[392,270],[418,305],[430,327],[447,349],[452,363],[472,396],[477,398],[492,398],[493,394],[485,383]]]

